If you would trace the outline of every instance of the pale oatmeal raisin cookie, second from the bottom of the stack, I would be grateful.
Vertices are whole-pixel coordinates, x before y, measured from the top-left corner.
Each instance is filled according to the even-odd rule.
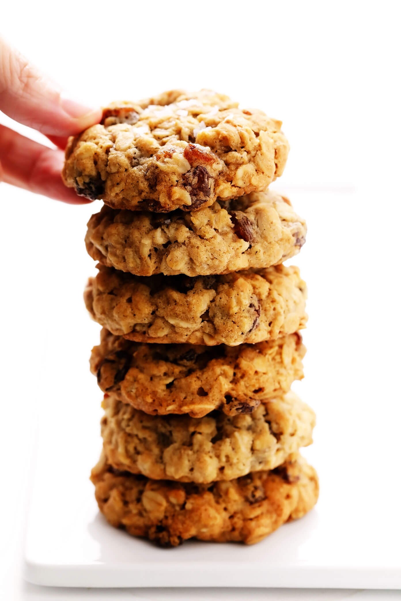
[[[147,415],[105,395],[103,450],[113,468],[153,480],[207,484],[277,468],[312,442],[315,416],[293,392],[250,415]]]

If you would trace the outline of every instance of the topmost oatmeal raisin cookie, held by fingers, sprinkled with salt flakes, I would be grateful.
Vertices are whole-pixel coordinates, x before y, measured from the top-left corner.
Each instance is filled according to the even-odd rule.
[[[100,124],[69,139],[63,180],[114,209],[197,210],[281,175],[289,145],[280,128],[211,90],[112,103]]]

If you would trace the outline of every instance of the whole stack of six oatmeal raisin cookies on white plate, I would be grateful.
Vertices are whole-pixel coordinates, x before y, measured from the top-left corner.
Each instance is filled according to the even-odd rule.
[[[280,127],[170,91],[112,104],[67,147],[66,185],[105,202],[86,236],[105,410],[91,480],[109,523],[164,546],[256,543],[317,500],[299,455],[314,413],[290,391],[305,283],[282,264],[306,226],[268,189],[289,150]]]

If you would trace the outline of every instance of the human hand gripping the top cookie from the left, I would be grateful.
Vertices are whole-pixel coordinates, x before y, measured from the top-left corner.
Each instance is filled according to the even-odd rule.
[[[64,97],[54,82],[0,38],[0,111],[57,146],[48,148],[0,124],[0,182],[64,203],[89,202],[61,181],[63,149],[68,136],[99,123],[101,109]]]

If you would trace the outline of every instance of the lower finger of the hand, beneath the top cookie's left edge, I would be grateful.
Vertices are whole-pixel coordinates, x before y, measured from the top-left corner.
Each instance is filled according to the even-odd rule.
[[[87,203],[86,198],[78,197],[64,186],[63,162],[61,150],[42,146],[0,125],[0,181],[64,203]]]

